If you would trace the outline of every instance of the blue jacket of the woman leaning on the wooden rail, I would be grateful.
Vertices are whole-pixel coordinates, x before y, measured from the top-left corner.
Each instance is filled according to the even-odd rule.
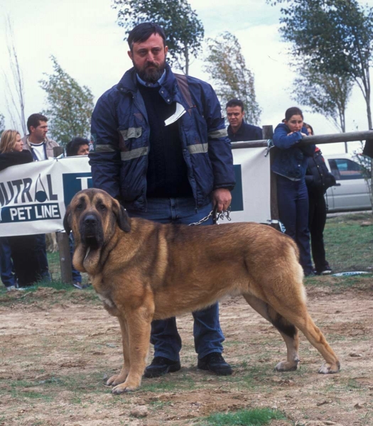
[[[301,133],[308,135],[306,127],[301,131],[290,133],[286,124],[279,124],[274,130],[275,155],[271,170],[274,173],[295,180],[304,179],[307,170],[307,157],[313,157],[315,145],[298,146],[302,140]]]

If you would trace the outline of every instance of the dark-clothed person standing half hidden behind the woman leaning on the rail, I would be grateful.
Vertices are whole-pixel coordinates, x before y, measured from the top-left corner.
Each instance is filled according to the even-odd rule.
[[[308,133],[313,136],[313,128],[305,124]],[[325,202],[325,192],[336,184],[335,177],[329,172],[320,148],[315,147],[312,157],[307,157],[308,167],[306,171],[306,185],[308,190],[308,227],[310,229],[310,241],[313,262],[316,275],[328,275],[332,273],[328,261],[325,258],[324,228],[328,206]]]

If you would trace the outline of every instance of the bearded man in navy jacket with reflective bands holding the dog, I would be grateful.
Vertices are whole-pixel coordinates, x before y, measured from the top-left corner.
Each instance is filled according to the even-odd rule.
[[[190,224],[224,211],[234,187],[232,151],[210,84],[174,75],[166,35],[153,23],[128,38],[134,67],[105,92],[92,114],[90,165],[94,187],[109,192],[130,216]],[[211,218],[205,224],[211,224]],[[198,368],[232,373],[222,357],[218,305],[194,312]],[[146,377],[180,369],[175,318],[154,321],[154,359]]]

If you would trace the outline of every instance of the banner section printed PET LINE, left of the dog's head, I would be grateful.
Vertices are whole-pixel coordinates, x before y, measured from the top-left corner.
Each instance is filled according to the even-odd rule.
[[[90,186],[91,168],[83,156],[6,168],[0,172],[0,235],[62,231],[65,206]]]

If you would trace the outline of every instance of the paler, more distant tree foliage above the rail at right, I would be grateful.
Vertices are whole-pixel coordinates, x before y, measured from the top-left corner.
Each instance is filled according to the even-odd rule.
[[[323,114],[342,132],[346,131],[345,111],[352,91],[349,76],[328,75],[298,67],[298,75],[293,84],[293,99],[310,107],[311,112]]]

